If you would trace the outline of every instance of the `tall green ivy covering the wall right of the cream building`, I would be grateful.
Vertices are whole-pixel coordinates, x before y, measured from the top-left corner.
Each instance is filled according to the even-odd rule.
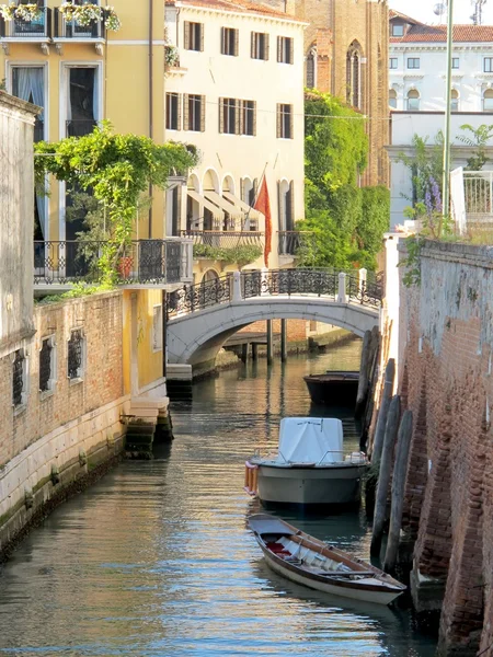
[[[306,219],[297,229],[302,267],[374,269],[389,227],[390,195],[385,187],[357,186],[366,166],[368,138],[363,116],[322,93],[306,101]]]

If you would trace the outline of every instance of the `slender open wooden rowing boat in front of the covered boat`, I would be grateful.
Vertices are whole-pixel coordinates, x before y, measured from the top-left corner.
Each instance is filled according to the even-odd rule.
[[[383,570],[280,518],[255,514],[249,518],[249,526],[268,566],[291,581],[376,604],[390,604],[406,588]]]

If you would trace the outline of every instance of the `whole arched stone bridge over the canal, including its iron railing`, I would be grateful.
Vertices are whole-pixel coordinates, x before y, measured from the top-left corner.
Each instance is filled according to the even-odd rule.
[[[378,325],[381,284],[320,269],[234,272],[168,296],[170,364],[216,358],[233,333],[259,320],[302,319],[334,324],[363,336]]]

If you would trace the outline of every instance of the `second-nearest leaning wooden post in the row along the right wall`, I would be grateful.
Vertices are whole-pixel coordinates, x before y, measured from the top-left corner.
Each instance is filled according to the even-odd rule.
[[[377,495],[375,500],[374,528],[371,534],[370,553],[372,556],[380,554],[381,537],[387,515],[387,494],[389,492],[390,473],[392,471],[393,446],[399,429],[399,415],[401,399],[397,394],[392,397],[387,416],[386,435],[381,450],[380,469],[378,473]]]

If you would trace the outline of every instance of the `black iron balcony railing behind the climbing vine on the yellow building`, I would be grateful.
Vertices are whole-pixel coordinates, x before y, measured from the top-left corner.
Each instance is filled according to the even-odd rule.
[[[105,242],[34,242],[34,285],[98,283]],[[172,284],[191,279],[192,243],[175,239],[138,240],[117,263],[126,284]]]

